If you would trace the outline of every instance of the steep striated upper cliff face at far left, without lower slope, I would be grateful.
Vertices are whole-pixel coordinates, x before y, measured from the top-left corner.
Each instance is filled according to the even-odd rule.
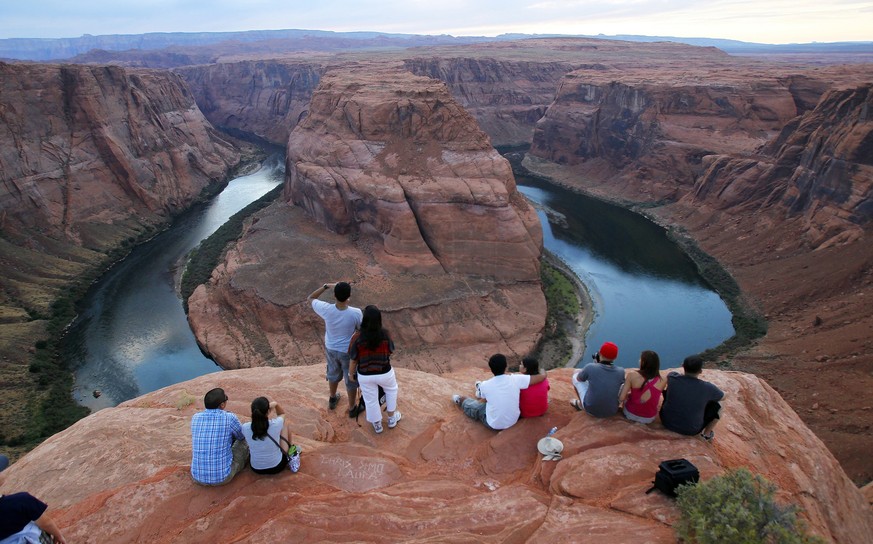
[[[29,64],[0,76],[4,229],[102,249],[105,226],[169,217],[239,160],[178,76]]]

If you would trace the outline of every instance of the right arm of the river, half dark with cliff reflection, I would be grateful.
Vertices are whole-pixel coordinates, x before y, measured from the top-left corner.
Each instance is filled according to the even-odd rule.
[[[662,368],[674,367],[733,335],[724,301],[664,229],[533,176],[516,173],[516,182],[538,208],[546,249],[576,272],[594,299],[594,323],[577,366],[609,340],[619,346],[620,366],[636,367],[640,352],[652,349]]]

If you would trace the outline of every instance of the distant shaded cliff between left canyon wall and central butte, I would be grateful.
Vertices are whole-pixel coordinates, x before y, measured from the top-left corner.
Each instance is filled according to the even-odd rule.
[[[324,66],[293,60],[252,60],[177,68],[197,105],[217,127],[284,146],[305,116]]]

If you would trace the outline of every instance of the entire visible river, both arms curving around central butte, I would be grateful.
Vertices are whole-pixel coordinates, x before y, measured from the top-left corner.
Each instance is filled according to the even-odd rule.
[[[282,161],[273,158],[232,180],[94,284],[65,337],[79,403],[98,410],[220,370],[188,326],[176,288],[179,267],[191,249],[282,178]],[[594,300],[580,363],[611,340],[623,366],[635,366],[643,349],[657,351],[662,366],[676,366],[733,334],[727,307],[663,229],[536,178],[516,179],[538,207],[546,248],[582,278]]]

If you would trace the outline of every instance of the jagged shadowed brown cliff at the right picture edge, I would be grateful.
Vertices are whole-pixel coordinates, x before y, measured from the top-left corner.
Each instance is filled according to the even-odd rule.
[[[857,239],[873,219],[873,86],[830,91],[758,155],[704,168],[694,201],[802,216],[812,247]]]

